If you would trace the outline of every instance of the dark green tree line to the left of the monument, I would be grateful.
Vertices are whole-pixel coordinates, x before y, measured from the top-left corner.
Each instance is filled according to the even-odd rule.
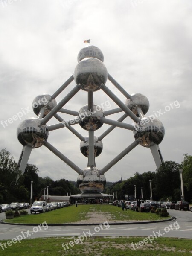
[[[0,204],[11,202],[29,202],[31,181],[33,180],[33,200],[41,198],[44,188],[49,186],[49,195],[79,194],[79,188],[68,180],[52,180],[39,177],[38,168],[27,163],[23,175],[17,169],[17,162],[5,148],[0,150]],[[68,194],[70,195],[70,194]]]

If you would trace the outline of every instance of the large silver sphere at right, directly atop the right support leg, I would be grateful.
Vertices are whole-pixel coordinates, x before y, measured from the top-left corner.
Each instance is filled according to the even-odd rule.
[[[134,129],[135,140],[138,140],[140,145],[149,148],[154,144],[162,142],[165,134],[165,129],[162,122],[157,118],[143,117]]]

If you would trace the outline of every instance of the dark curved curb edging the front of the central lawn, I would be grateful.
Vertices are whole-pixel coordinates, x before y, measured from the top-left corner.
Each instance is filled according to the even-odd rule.
[[[137,221],[137,222],[112,222],[112,223],[108,223],[109,225],[132,225],[132,224],[149,224],[149,223],[159,223],[159,222],[167,222],[167,221],[174,221],[176,220],[176,218],[174,216],[171,216],[172,218],[169,218],[167,220],[159,220],[159,221]],[[104,221],[105,222],[105,221]],[[42,223],[41,224],[24,224],[24,223],[8,223],[8,222],[5,222],[3,220],[0,220],[0,224],[7,224],[7,225],[17,225],[17,226],[42,226]],[[99,225],[99,223],[60,223],[60,224],[47,224],[47,226],[97,226]]]

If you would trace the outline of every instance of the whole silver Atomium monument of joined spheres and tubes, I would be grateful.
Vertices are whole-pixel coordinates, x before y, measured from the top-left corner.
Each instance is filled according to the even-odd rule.
[[[103,63],[104,56],[102,51],[95,46],[84,47],[78,54],[78,64],[75,67],[74,74],[52,95],[43,94],[33,100],[33,111],[37,117],[31,117],[23,120],[17,128],[17,138],[23,145],[23,150],[18,162],[18,168],[25,171],[33,148],[44,145],[52,153],[67,163],[78,173],[77,183],[81,193],[102,193],[107,172],[122,157],[125,157],[138,144],[151,149],[157,168],[161,165],[163,158],[160,153],[159,144],[163,140],[165,131],[163,124],[157,118],[145,116],[149,109],[149,101],[146,96],[140,93],[128,94],[112,76],[108,74],[107,68]],[[61,102],[57,103],[55,98],[72,82],[76,86],[68,93]],[[117,96],[105,85],[106,81],[111,83],[125,96],[125,103],[120,101]],[[87,105],[80,108],[79,111],[64,109],[64,105],[79,92],[87,92]],[[98,105],[93,104],[93,94],[97,90],[102,90],[106,95],[119,106],[119,108],[109,111],[103,111]],[[44,99],[44,100],[42,100]],[[115,113],[124,112],[117,120],[107,119],[106,116]],[[58,113],[71,114],[74,119],[64,121]],[[129,116],[135,125],[127,124],[123,120]],[[46,125],[47,122],[55,117],[58,123],[55,125]],[[103,124],[110,127],[99,137],[94,136],[94,131],[102,127]],[[72,125],[79,124],[82,129],[88,131],[88,136],[83,137]],[[96,168],[95,158],[102,153],[102,139],[107,136],[115,127],[131,130],[133,132],[133,143],[125,148],[110,163],[102,169]],[[75,163],[70,161],[64,154],[51,145],[47,139],[50,131],[60,128],[67,128],[78,137],[81,153],[88,158],[87,167],[81,170]]]

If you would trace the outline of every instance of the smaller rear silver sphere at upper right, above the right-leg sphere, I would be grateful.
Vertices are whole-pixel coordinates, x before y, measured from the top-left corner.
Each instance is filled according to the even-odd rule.
[[[130,99],[126,99],[125,105],[136,115],[139,116],[137,113],[137,108],[141,108],[143,114],[145,115],[149,109],[149,101],[147,97],[141,93],[134,93],[131,94]]]

